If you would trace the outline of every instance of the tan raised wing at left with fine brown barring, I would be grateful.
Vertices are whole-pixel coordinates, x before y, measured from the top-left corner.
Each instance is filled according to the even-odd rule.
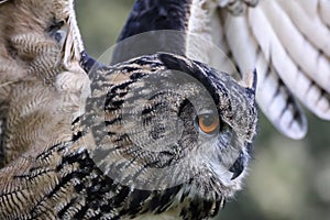
[[[89,80],[79,66],[82,44],[72,11],[70,0],[14,0],[0,4],[4,164],[34,145],[45,131],[52,133],[53,114],[73,120],[81,97],[88,95]],[[70,120],[66,122],[68,131]],[[43,129],[35,130],[30,121],[44,123]]]

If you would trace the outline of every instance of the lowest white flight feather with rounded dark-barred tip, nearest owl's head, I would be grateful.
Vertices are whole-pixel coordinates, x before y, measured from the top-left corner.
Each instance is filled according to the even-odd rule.
[[[307,121],[292,92],[279,79],[272,62],[267,61],[244,16],[228,15],[226,30],[229,47],[241,73],[256,68],[258,75],[256,100],[272,123],[284,134],[300,139]]]

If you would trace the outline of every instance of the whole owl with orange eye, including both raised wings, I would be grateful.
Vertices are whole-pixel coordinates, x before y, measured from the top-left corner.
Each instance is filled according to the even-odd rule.
[[[165,44],[175,53],[130,50],[130,57],[123,43],[112,65],[84,51],[73,4],[0,1],[0,219],[208,219],[242,187],[256,134],[255,98],[266,100],[262,109],[284,133],[306,132],[287,88],[292,79],[280,70],[297,67],[299,79],[311,82],[299,98],[317,100],[315,112],[327,118],[322,78],[304,78],[310,66],[296,57],[299,44],[289,47],[271,13],[289,15],[295,25],[285,32],[301,40],[308,30],[295,20],[301,11],[290,11],[293,3],[138,0],[120,40],[176,30],[175,44]],[[297,7],[315,15],[315,8]],[[264,37],[255,23],[268,31]],[[210,67],[209,45],[190,33],[220,42],[241,79]],[[321,40],[304,42],[315,53]],[[326,48],[317,69],[327,66]],[[256,75],[262,85],[272,79],[270,96],[258,95]],[[274,108],[282,113],[271,114]]]

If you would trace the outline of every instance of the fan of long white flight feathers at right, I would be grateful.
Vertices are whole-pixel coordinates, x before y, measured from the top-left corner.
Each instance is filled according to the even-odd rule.
[[[330,119],[327,11],[326,1],[261,1],[243,16],[227,13],[223,20],[241,72],[257,68],[260,107],[290,138],[302,138],[307,130],[294,97],[318,117]],[[240,36],[245,36],[243,42]]]

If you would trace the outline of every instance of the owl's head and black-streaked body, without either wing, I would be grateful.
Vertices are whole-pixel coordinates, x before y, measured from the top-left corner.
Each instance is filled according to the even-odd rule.
[[[241,188],[255,75],[243,87],[173,54],[91,73],[72,140],[1,170],[1,219],[205,219]]]

